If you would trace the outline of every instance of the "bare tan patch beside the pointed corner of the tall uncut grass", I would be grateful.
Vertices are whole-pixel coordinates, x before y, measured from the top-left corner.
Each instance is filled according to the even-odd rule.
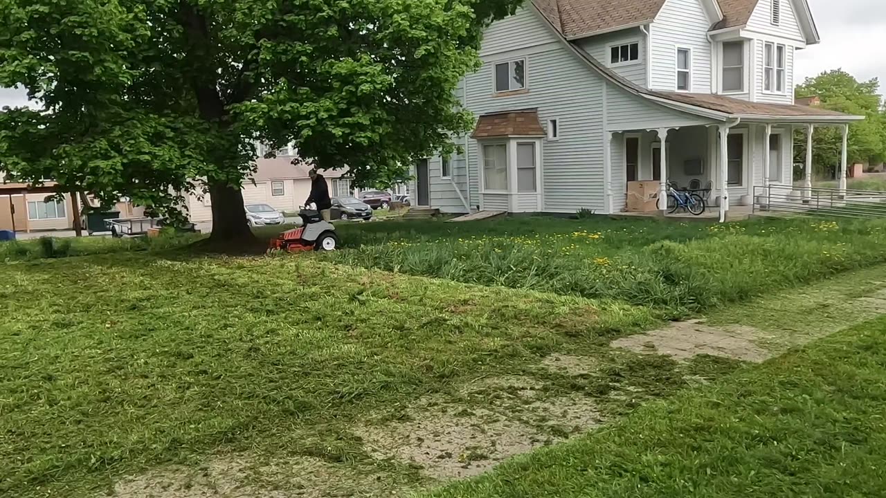
[[[755,342],[762,334],[750,327],[715,328],[699,321],[674,322],[664,329],[612,341],[636,353],[667,354],[685,361],[699,354],[763,362],[772,354]]]

